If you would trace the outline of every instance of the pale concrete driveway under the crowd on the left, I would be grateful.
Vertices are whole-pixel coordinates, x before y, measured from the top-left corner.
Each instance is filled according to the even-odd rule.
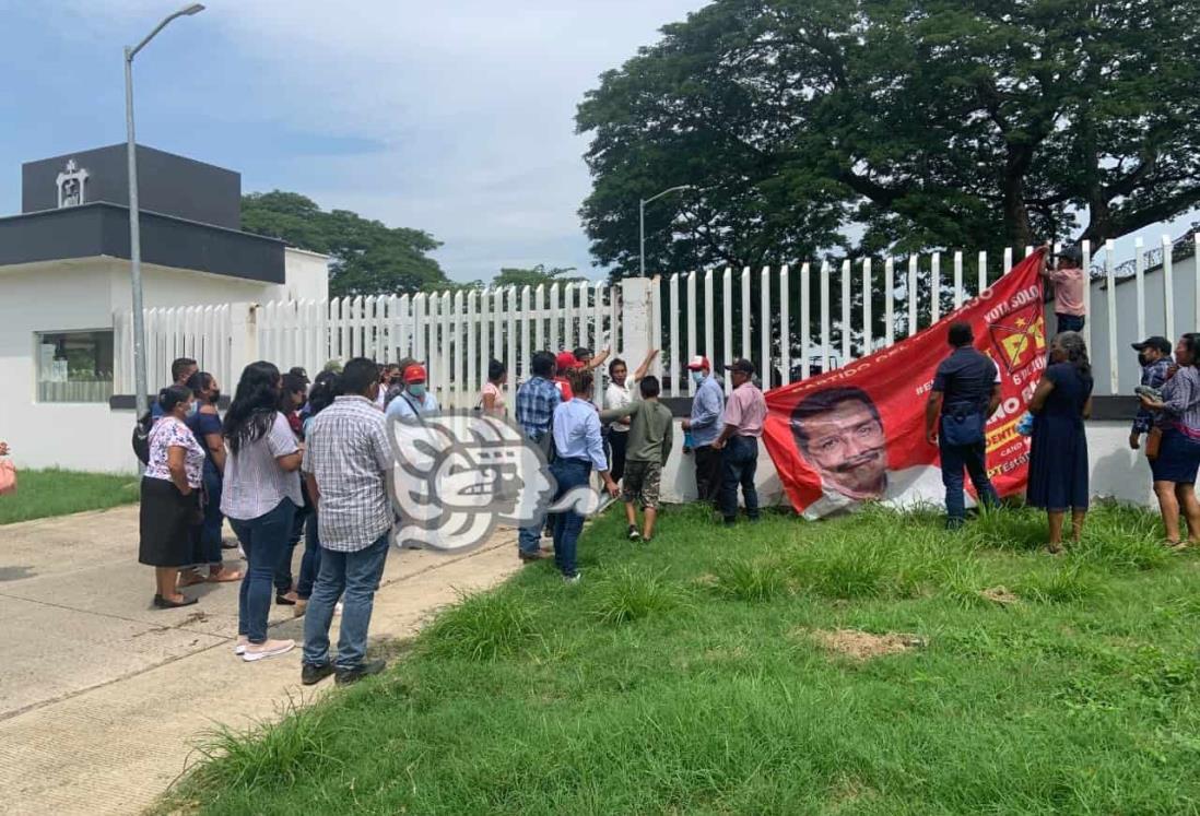
[[[200,601],[182,610],[154,608],[137,527],[136,506],[0,527],[5,814],[138,812],[196,761],[204,731],[246,727],[289,697],[334,688],[300,685],[299,647],[254,664],[234,656],[238,583],[190,588]],[[516,571],[515,538],[503,532],[457,557],[394,550],[372,642],[410,636],[460,590]],[[271,623],[272,636],[301,640],[292,607],[272,606]]]

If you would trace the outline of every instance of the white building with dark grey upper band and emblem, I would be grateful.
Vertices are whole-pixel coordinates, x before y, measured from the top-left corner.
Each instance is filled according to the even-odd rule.
[[[23,211],[0,218],[0,439],[19,466],[136,467],[133,395],[114,392],[130,379],[114,331],[131,305],[125,162],[120,144],[26,163]],[[138,163],[148,310],[328,296],[324,256],[241,232],[238,173],[144,146]]]

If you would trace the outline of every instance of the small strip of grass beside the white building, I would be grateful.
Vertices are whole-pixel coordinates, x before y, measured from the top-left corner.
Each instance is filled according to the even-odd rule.
[[[136,504],[134,475],[77,470],[20,470],[17,492],[0,496],[0,524]]]

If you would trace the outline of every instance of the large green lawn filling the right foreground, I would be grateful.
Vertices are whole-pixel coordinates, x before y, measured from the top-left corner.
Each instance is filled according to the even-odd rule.
[[[383,677],[214,737],[163,809],[1200,812],[1200,559],[1140,511],[1096,508],[1057,558],[1043,524],[671,509],[646,546],[610,514],[580,584],[542,564],[466,599]]]

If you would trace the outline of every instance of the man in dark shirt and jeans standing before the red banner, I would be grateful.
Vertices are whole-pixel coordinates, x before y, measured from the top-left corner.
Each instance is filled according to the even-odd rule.
[[[937,445],[942,458],[946,527],[958,529],[966,517],[962,468],[982,504],[1000,502],[988,480],[985,439],[988,418],[1000,404],[1000,370],[972,346],[970,324],[952,323],[948,338],[954,350],[934,376],[934,390],[925,403],[925,440]]]

